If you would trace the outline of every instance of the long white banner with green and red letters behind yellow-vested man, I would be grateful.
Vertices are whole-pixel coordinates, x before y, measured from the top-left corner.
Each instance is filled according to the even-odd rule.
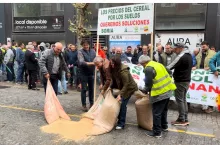
[[[130,67],[130,73],[138,84],[138,87],[143,88],[145,85],[143,67],[130,63],[124,64]],[[203,69],[193,70],[191,73],[190,86],[186,94],[187,102],[209,106],[220,105],[219,86],[220,77],[217,78],[212,72]],[[175,100],[174,96],[171,97],[171,100]]]

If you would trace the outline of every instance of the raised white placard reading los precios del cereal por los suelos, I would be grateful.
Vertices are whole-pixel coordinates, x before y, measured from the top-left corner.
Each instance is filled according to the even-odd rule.
[[[154,4],[102,8],[98,35],[149,34],[153,32]]]

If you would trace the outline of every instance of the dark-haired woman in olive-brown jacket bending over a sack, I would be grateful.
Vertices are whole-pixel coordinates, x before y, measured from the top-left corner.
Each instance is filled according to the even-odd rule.
[[[121,108],[118,115],[117,130],[125,127],[127,104],[131,95],[138,90],[137,84],[132,78],[129,67],[122,64],[119,56],[114,56],[110,60],[112,74],[112,89],[119,89],[120,94],[117,100],[121,102]]]

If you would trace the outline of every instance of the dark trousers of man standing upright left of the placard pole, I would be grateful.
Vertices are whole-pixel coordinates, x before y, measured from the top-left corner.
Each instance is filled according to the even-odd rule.
[[[87,91],[87,85],[89,89],[89,103],[90,105],[93,105],[94,103],[94,76],[81,76],[81,84],[82,84],[82,90],[81,90],[81,101],[82,105],[86,105],[86,91]]]

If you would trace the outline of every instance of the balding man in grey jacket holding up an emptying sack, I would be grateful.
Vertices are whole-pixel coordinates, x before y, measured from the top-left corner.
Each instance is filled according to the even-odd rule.
[[[46,92],[47,79],[50,79],[56,95],[58,92],[58,80],[61,80],[62,71],[66,71],[67,75],[70,76],[70,71],[61,53],[62,49],[62,43],[57,42],[55,48],[46,50],[39,60],[40,71],[44,75],[44,90]]]

